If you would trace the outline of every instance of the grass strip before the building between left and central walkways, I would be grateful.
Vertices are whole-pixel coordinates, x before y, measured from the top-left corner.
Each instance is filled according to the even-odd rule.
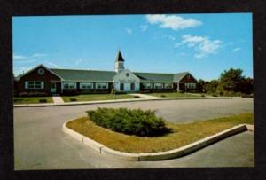
[[[92,101],[92,100],[111,100],[111,99],[123,99],[134,98],[134,96],[128,94],[82,94],[77,96],[63,96],[65,102],[71,102],[71,98],[75,98],[76,101]]]

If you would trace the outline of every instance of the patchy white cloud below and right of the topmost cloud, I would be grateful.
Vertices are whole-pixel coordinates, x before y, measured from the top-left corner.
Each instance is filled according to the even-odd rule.
[[[174,47],[186,45],[188,48],[193,48],[196,52],[194,57],[197,59],[205,58],[210,54],[215,54],[221,49],[223,42],[220,40],[210,40],[207,36],[183,35],[182,42],[176,43]]]

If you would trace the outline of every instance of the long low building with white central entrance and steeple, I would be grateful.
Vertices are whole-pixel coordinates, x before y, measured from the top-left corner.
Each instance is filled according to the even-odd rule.
[[[124,67],[118,51],[114,71],[55,69],[39,65],[14,81],[17,95],[79,93],[190,91],[197,80],[189,72],[177,74],[137,73]]]

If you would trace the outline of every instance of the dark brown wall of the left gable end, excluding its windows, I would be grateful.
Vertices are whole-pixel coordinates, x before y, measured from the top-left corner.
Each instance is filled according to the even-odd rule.
[[[38,69],[41,67],[36,68],[34,71],[20,77],[20,81],[17,82],[17,90],[18,93],[21,92],[45,92],[47,94],[50,94],[50,82],[51,81],[60,81],[60,78],[58,76],[56,76],[55,74],[52,74],[50,71],[46,70],[45,68],[44,71],[45,73],[43,75],[40,75],[37,73]],[[27,81],[43,81],[43,89],[41,90],[27,90],[25,89],[25,82]]]

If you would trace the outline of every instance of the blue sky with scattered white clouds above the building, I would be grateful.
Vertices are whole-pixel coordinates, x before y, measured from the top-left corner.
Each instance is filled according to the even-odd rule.
[[[39,64],[113,71],[120,50],[132,72],[253,77],[251,13],[13,17],[12,44],[15,75]]]

